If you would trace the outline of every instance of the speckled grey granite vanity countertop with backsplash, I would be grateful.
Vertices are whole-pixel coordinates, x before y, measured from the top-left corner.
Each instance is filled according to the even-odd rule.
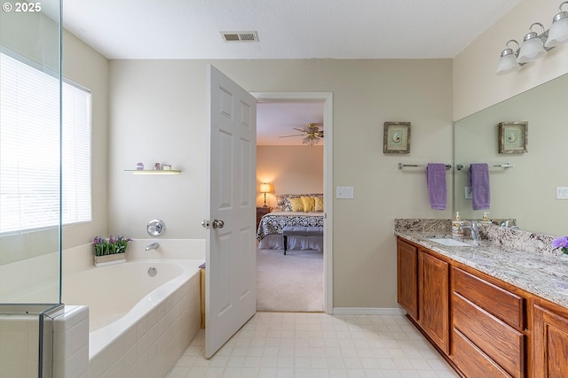
[[[568,255],[553,251],[550,243],[555,236],[480,225],[481,240],[471,247],[428,240],[452,237],[444,222],[451,224],[451,220],[395,220],[395,235],[568,308]],[[437,223],[440,228],[433,227]]]

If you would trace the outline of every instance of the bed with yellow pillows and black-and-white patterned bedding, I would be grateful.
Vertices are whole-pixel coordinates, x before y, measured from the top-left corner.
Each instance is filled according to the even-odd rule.
[[[286,226],[323,227],[322,194],[284,194],[276,197],[277,206],[264,214],[256,230],[258,248],[283,250],[282,228]],[[321,236],[289,236],[288,250],[323,251]]]

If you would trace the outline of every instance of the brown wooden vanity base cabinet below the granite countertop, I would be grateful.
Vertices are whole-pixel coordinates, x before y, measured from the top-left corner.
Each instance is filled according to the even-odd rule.
[[[398,303],[464,377],[568,378],[568,308],[398,238]]]

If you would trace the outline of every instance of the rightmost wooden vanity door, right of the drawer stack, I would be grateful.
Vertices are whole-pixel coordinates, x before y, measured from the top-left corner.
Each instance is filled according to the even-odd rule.
[[[568,377],[568,318],[533,306],[533,376]]]

